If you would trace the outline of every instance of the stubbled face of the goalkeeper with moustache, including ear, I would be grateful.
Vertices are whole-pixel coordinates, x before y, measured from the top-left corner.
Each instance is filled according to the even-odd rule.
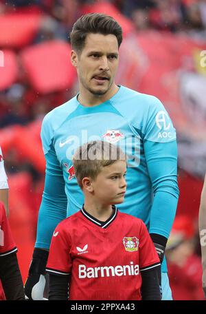
[[[71,63],[76,67],[80,90],[104,95],[114,86],[119,61],[115,35],[88,34],[82,52],[72,51]]]

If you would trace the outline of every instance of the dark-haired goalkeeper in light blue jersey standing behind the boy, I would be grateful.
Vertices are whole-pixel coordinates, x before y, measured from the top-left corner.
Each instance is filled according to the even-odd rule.
[[[115,84],[122,43],[122,28],[117,21],[105,14],[84,15],[73,25],[70,37],[71,63],[77,70],[80,92],[43,120],[45,188],[25,294],[33,300],[43,297],[54,229],[82,207],[73,151],[89,140],[104,139],[130,156],[128,189],[119,211],[146,224],[162,262],[162,300],[172,300],[164,258],[179,198],[172,121],[155,96]]]

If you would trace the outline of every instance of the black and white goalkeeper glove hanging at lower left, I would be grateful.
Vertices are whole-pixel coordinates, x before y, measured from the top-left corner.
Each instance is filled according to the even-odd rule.
[[[34,248],[28,278],[25,282],[25,297],[29,300],[44,300],[45,267],[49,251]]]

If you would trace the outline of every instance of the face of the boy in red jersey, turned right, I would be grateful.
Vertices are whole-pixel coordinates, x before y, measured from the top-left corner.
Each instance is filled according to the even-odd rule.
[[[117,160],[113,165],[103,167],[95,180],[92,180],[93,195],[102,204],[120,204],[126,192],[126,162]]]

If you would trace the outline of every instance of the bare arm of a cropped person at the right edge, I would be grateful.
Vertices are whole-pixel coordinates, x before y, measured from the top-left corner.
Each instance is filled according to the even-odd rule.
[[[199,209],[199,233],[201,240],[202,265],[203,265],[203,291],[206,297],[206,174],[201,193],[201,205]]]

